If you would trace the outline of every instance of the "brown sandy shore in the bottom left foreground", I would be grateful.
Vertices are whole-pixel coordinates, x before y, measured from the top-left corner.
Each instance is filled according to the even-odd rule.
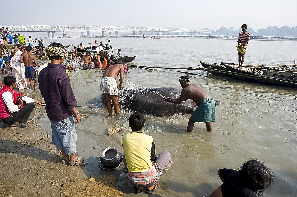
[[[112,175],[87,177],[84,166],[61,164],[51,134],[35,120],[0,128],[0,196],[124,196]]]

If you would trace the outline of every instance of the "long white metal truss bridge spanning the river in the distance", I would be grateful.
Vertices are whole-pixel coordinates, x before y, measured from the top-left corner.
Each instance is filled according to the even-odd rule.
[[[80,32],[80,36],[90,36],[91,31],[104,31],[115,32],[119,35],[119,32],[132,32],[136,35],[142,35],[143,32],[151,32],[151,34],[162,35],[162,33],[174,33],[174,34],[211,34],[212,30],[195,30],[195,29],[178,29],[178,28],[153,28],[153,27],[116,27],[116,26],[76,26],[76,25],[56,25],[51,27],[49,25],[11,25],[8,27],[10,32],[48,32],[48,37],[55,37],[55,32],[63,32],[63,36],[67,37],[68,31]],[[104,36],[102,32],[102,36]]]

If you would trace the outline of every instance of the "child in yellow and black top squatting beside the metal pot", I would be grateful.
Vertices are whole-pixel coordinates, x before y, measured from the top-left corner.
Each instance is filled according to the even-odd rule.
[[[129,117],[131,133],[123,134],[123,161],[128,170],[128,179],[133,185],[135,193],[151,194],[157,187],[157,182],[163,171],[167,172],[171,165],[171,155],[163,150],[157,157],[153,137],[144,134],[144,117],[141,113],[132,113]]]

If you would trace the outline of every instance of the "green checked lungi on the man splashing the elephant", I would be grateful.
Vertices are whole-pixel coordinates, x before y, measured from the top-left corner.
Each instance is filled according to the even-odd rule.
[[[215,115],[216,103],[213,98],[207,98],[199,102],[190,119],[194,122],[215,122]]]

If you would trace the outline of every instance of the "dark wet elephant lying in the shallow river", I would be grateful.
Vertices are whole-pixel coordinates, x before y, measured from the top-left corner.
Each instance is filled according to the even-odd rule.
[[[180,105],[166,102],[167,97],[178,98],[181,90],[176,88],[140,88],[122,89],[119,91],[120,108],[131,109],[152,116],[170,116],[174,114],[192,113],[197,105],[192,100],[183,101]],[[104,103],[104,98],[102,98]],[[220,104],[216,101],[216,105]]]

